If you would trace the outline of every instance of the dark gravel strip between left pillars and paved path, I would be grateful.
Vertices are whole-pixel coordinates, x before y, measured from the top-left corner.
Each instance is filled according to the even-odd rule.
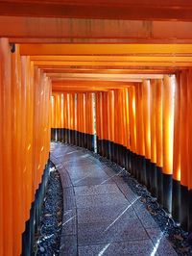
[[[60,174],[52,166],[36,233],[35,255],[60,255],[62,207]]]

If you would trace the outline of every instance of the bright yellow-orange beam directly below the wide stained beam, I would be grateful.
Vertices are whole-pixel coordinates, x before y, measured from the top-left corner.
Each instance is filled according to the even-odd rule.
[[[21,55],[191,54],[192,44],[21,44]]]

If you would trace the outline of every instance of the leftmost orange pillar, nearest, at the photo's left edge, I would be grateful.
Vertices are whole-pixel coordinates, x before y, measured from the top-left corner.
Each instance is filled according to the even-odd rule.
[[[0,73],[1,73],[1,171],[3,184],[1,197],[3,200],[3,255],[12,255],[12,72],[11,49],[7,38],[0,38]]]

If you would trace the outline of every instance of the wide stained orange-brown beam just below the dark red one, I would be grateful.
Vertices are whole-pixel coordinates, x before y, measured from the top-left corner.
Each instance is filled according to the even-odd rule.
[[[191,27],[191,21],[0,16],[0,37],[15,43],[191,43]]]

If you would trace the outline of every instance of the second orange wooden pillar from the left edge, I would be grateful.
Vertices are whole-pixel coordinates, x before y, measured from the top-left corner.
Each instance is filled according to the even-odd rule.
[[[21,68],[20,68],[20,65],[21,65],[21,62],[20,62],[19,47],[16,46],[15,52],[12,54],[12,120],[14,120],[12,123],[12,141],[14,141],[12,145],[12,155],[14,156],[14,171],[12,172],[12,180],[14,181],[15,188],[22,188],[22,176],[21,176],[21,166],[20,166],[20,163],[21,163],[21,154],[20,154],[21,152],[21,133],[20,133],[20,130],[21,130],[21,122],[20,122],[20,116],[21,116],[21,100],[20,100],[21,72],[20,71],[21,71]],[[1,81],[1,78],[0,78],[0,81]],[[2,156],[2,154],[0,155]],[[2,160],[0,162],[2,162]],[[0,194],[2,195],[2,193]],[[23,231],[23,218],[24,218],[23,212],[22,212],[21,189],[14,190],[14,200],[12,201],[12,203],[13,203],[12,204],[12,208],[13,208],[12,228],[13,228],[13,238],[14,238],[13,251],[15,252],[15,255],[19,255],[19,253],[21,252],[21,233]],[[3,210],[3,206],[1,209]],[[2,227],[3,225],[0,224],[0,226]],[[3,249],[3,244],[1,244],[0,246],[1,246],[1,249]],[[1,254],[0,252],[0,255],[3,255],[3,253]]]

